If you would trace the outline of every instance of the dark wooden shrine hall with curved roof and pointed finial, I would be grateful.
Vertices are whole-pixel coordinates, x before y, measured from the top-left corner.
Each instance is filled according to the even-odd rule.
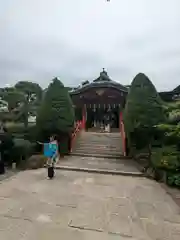
[[[118,129],[127,94],[128,87],[111,80],[103,69],[97,79],[70,91],[76,120],[83,120],[87,131],[107,124]]]

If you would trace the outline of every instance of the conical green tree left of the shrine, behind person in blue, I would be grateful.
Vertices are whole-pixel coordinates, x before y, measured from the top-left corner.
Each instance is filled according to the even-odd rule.
[[[69,133],[74,125],[74,108],[67,89],[57,78],[53,79],[43,98],[37,115],[40,133]]]

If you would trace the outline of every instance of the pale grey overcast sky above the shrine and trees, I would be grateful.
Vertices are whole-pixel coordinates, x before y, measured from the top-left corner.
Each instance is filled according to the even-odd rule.
[[[0,86],[144,72],[160,90],[180,84],[180,0],[0,0]]]

